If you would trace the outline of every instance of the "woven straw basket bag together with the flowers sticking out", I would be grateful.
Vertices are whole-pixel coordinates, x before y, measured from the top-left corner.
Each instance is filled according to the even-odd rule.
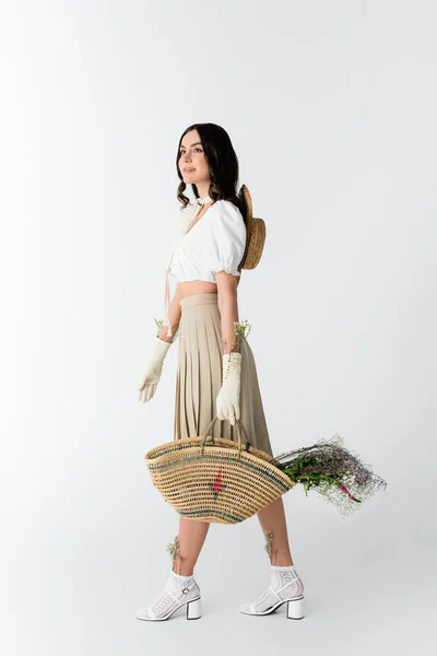
[[[237,524],[302,483],[307,495],[315,489],[346,518],[364,500],[387,487],[343,446],[338,433],[273,457],[250,445],[239,420],[238,444],[214,437],[212,429],[217,419],[212,420],[205,435],[173,440],[144,456],[153,484],[179,515],[199,522]],[[241,432],[246,435],[245,449]]]

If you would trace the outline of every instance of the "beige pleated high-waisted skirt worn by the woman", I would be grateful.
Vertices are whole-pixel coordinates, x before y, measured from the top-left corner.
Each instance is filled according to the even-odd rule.
[[[222,386],[222,328],[217,294],[193,294],[180,301],[178,365],[176,379],[175,440],[204,435],[216,415]],[[240,340],[240,421],[250,444],[273,455],[262,407],[253,353]],[[238,442],[237,426],[217,419],[216,437]],[[241,436],[243,447],[245,436]]]

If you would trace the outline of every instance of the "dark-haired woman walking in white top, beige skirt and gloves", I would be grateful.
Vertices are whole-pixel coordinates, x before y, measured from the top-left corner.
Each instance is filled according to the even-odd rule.
[[[256,448],[272,455],[251,348],[235,330],[239,324],[237,285],[246,247],[246,209],[236,194],[238,160],[227,132],[214,124],[196,124],[180,138],[177,153],[178,199],[188,225],[174,250],[168,271],[177,288],[140,387],[140,400],[155,394],[164,358],[179,332],[175,440],[203,435],[217,415],[213,434],[237,440],[237,419]],[[192,186],[193,206],[184,195]],[[188,206],[188,212],[186,210]],[[295,600],[303,617],[304,585],[290,551],[282,496],[258,513],[269,554],[270,585],[250,604],[248,614],[268,614]],[[173,567],[164,588],[142,620],[166,620],[187,605],[187,618],[200,617],[200,588],[193,570],[210,524],[180,516],[175,542],[168,546]],[[291,607],[288,606],[288,608]],[[290,617],[290,616],[288,616]]]

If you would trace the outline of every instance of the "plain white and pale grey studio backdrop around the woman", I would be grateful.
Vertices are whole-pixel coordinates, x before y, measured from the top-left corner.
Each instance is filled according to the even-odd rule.
[[[430,654],[435,2],[10,0],[0,25],[2,653]],[[388,482],[346,522],[284,496],[303,622],[239,612],[269,583],[256,517],[211,527],[199,622],[134,617],[178,527],[143,460],[173,438],[176,349],[138,387],[196,121],[267,222],[239,308],[274,453],[339,431]]]

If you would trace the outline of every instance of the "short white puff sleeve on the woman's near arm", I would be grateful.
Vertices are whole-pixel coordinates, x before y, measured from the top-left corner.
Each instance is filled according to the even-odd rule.
[[[239,276],[238,265],[246,248],[246,224],[243,214],[229,200],[218,201],[216,210],[211,222],[211,271],[226,271]]]

